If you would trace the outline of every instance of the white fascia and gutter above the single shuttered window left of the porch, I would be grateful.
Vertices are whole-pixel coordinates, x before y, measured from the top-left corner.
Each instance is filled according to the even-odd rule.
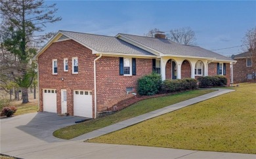
[[[96,55],[102,56],[112,56],[112,57],[120,57],[120,56],[132,56],[136,58],[158,58],[156,55],[140,55],[140,54],[126,54],[126,53],[119,53],[119,52],[97,52]]]

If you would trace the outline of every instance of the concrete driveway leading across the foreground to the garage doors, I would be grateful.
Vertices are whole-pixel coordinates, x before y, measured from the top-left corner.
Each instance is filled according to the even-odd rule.
[[[0,152],[18,158],[256,158],[253,154],[84,143],[53,137],[54,130],[81,119],[54,113],[2,118]]]

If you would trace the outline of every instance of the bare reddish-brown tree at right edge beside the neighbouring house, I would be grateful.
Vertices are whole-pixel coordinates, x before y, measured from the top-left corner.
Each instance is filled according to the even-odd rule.
[[[249,52],[252,62],[256,64],[256,27],[249,29],[242,40],[244,52]]]

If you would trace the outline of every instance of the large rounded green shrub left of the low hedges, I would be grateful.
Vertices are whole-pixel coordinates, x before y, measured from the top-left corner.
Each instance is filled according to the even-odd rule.
[[[152,96],[158,94],[161,88],[161,75],[152,73],[138,80],[137,91],[140,95]]]

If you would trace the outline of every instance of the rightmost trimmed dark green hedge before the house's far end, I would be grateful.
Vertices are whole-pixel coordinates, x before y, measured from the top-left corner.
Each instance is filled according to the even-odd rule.
[[[199,88],[211,88],[213,86],[226,86],[228,80],[224,76],[198,77]]]

